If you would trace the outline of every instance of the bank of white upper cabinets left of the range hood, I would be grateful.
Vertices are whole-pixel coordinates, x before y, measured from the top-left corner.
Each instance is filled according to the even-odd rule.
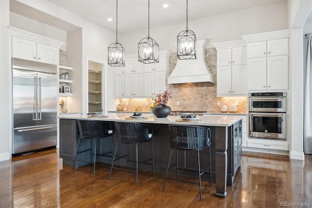
[[[125,67],[115,70],[116,98],[150,98],[166,89],[169,51],[161,51],[158,63],[137,61],[137,54],[127,57]]]

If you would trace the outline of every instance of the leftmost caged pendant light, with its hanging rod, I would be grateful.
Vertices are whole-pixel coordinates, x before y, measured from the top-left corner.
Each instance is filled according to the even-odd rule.
[[[125,65],[125,49],[118,42],[118,0],[116,0],[116,42],[113,42],[108,47],[108,64],[111,66],[124,66]]]

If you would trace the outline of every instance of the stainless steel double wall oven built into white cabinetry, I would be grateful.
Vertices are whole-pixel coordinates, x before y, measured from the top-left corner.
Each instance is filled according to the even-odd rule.
[[[249,137],[286,140],[286,92],[249,93]]]

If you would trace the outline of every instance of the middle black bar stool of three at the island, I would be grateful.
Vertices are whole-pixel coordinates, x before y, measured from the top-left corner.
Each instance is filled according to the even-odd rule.
[[[130,162],[136,162],[137,166],[139,164],[152,165],[153,166],[153,175],[154,175],[154,143],[153,143],[152,126],[144,125],[144,124],[138,124],[138,123],[124,123],[124,122],[115,122],[115,126],[116,126],[116,132],[117,132],[117,145],[116,145],[115,153],[114,153],[114,157],[113,157],[111,173],[109,174],[109,180],[111,180],[113,168],[119,169],[119,170],[136,172],[136,174],[137,174],[137,168],[136,168],[136,171],[128,169],[128,161],[130,161],[128,158],[128,145],[129,144],[135,144],[136,145],[136,161],[130,161]],[[138,144],[148,142],[148,141],[152,142],[152,158],[147,159],[145,161],[138,161]],[[118,143],[127,144],[127,154],[115,159]],[[114,167],[114,162],[116,160],[119,160],[119,159],[124,158],[124,157],[127,157],[127,169]],[[152,160],[152,163],[147,163],[148,161],[151,161],[151,160]],[[136,179],[137,179],[137,175],[136,175]]]

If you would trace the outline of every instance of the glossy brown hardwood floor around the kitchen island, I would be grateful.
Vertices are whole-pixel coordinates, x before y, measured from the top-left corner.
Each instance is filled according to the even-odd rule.
[[[167,181],[162,193],[164,174],[113,170],[97,163],[78,169],[63,166],[58,149],[46,150],[0,162],[0,208],[28,207],[312,207],[312,155],[305,161],[288,156],[244,152],[234,185],[227,197],[215,196],[215,184],[198,185]],[[306,203],[296,204],[291,203]]]

